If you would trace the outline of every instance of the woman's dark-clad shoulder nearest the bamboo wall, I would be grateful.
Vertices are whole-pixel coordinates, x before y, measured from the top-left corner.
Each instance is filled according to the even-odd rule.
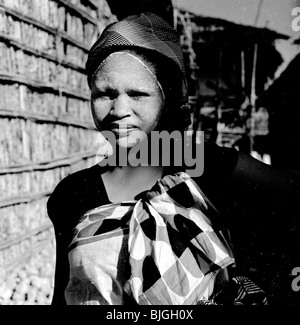
[[[62,179],[47,201],[47,212],[55,227],[65,220],[76,223],[78,217],[105,200],[98,165],[72,173]]]

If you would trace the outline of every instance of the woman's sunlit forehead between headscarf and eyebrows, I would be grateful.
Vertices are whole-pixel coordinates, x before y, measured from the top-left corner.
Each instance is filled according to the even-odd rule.
[[[153,66],[140,56],[124,52],[113,53],[101,63],[96,71],[94,83],[96,86],[122,86],[125,83],[138,87],[158,87]]]

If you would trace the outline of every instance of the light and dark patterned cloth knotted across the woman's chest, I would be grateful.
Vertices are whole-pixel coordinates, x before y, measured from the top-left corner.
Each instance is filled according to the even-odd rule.
[[[234,263],[218,214],[183,172],[87,212],[69,246],[69,304],[192,305]],[[127,298],[126,298],[127,297]]]

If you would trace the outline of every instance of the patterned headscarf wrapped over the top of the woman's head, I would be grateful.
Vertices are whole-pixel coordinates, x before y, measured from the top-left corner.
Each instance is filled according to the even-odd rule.
[[[182,74],[183,97],[187,96],[185,67],[179,37],[165,20],[153,13],[141,13],[108,25],[92,46],[86,63],[88,84],[100,63],[120,49],[140,48],[155,51],[175,64]]]

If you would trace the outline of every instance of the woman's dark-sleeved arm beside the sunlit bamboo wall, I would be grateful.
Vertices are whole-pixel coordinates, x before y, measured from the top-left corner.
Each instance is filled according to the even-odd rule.
[[[88,210],[108,203],[101,182],[101,170],[94,166],[63,179],[47,202],[47,211],[54,225],[56,266],[52,305],[65,305],[65,288],[69,281],[68,246],[79,218]]]

